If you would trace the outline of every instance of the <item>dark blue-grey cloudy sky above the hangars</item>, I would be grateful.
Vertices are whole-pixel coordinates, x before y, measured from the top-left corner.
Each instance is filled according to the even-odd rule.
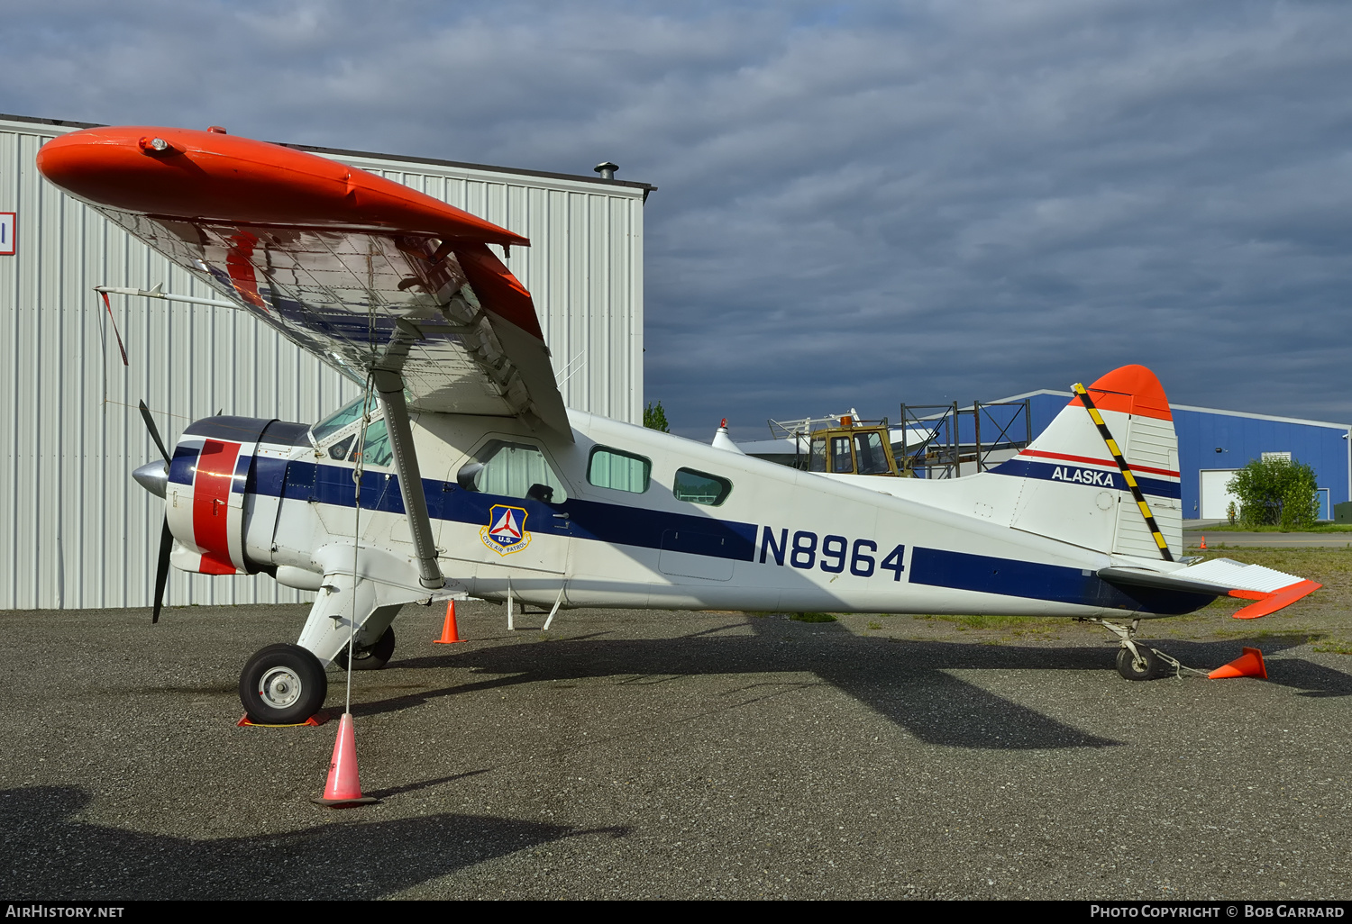
[[[660,186],[677,432],[1141,362],[1352,421],[1352,5],[0,0],[0,112]]]

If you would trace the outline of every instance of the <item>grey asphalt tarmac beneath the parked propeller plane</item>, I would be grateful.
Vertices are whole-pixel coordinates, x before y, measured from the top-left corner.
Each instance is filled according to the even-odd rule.
[[[1352,897],[1352,658],[1302,636],[1257,640],[1267,682],[1142,684],[1087,630],[470,604],[434,646],[415,607],[354,675],[381,801],[335,811],[337,723],[235,727],[303,615],[0,615],[0,896]]]

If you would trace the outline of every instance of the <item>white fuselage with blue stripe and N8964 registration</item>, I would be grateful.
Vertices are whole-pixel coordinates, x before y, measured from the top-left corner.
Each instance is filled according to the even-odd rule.
[[[823,476],[588,413],[569,416],[572,443],[512,419],[416,416],[433,536],[454,589],[502,600],[510,582],[515,600],[541,607],[562,593],[565,607],[1040,616],[1134,609],[1105,596],[1094,577],[1130,565],[1122,555],[1007,525],[1018,478]],[[339,431],[318,450],[266,439],[258,446],[260,458],[272,457],[273,474],[260,469],[246,497],[247,558],[276,566],[285,584],[318,589],[324,574],[352,574],[357,530],[358,575],[404,588],[404,601],[426,598],[393,469],[365,467],[358,512],[354,463],[326,453],[342,438]],[[538,447],[566,500],[460,486],[457,471],[493,440]],[[592,484],[598,447],[648,459],[646,490]],[[731,490],[717,507],[680,500],[677,469],[717,476]],[[522,534],[511,546],[488,535],[507,508]]]

